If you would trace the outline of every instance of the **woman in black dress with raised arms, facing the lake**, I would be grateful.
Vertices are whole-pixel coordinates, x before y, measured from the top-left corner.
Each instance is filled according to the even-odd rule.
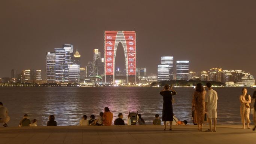
[[[171,126],[173,124],[173,104],[171,100],[173,99],[173,95],[176,95],[176,91],[174,91],[168,84],[165,84],[164,89],[160,92],[160,95],[162,95],[164,98],[162,113],[162,121],[164,121],[164,130],[166,129],[166,121],[170,121],[171,131]]]

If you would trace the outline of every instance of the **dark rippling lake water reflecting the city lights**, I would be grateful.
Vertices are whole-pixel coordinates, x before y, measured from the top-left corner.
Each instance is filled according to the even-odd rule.
[[[151,87],[1,87],[0,101],[9,110],[9,126],[18,126],[24,114],[37,119],[38,125],[46,125],[48,117],[55,115],[58,125],[78,125],[83,115],[98,117],[104,107],[114,114],[124,114],[127,123],[129,110],[138,111],[146,123],[151,124],[155,114],[162,115],[162,88]],[[193,88],[174,88],[177,95],[173,112],[179,120],[191,124]],[[240,124],[239,95],[242,88],[214,88],[219,100],[217,105],[219,124]],[[256,89],[248,88],[252,95]],[[252,119],[252,115],[250,115]]]

